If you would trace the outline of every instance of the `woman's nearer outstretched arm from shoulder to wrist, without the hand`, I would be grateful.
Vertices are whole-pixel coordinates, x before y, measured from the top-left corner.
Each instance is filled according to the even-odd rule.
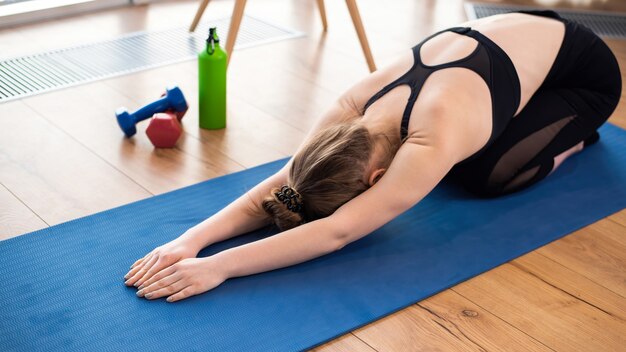
[[[454,165],[436,146],[406,143],[373,187],[329,217],[216,254],[226,277],[294,265],[339,250],[373,232],[426,196]]]

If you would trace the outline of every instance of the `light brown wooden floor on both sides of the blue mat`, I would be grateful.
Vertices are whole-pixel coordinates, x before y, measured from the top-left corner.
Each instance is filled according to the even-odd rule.
[[[626,11],[621,0],[542,2]],[[308,36],[235,52],[226,130],[197,128],[193,61],[0,104],[0,239],[290,155],[314,119],[367,74],[344,2],[326,3],[323,33],[315,1],[248,2],[246,13]],[[462,0],[358,4],[379,67],[466,19]],[[162,2],[3,30],[0,55],[184,26],[196,6]],[[232,6],[213,1],[205,16],[228,16]],[[626,73],[626,42],[609,45]],[[169,84],[191,103],[178,147],[154,150],[145,124],[124,139],[114,110],[151,101]],[[624,95],[611,121],[626,128]],[[625,297],[622,210],[317,350],[625,351]]]

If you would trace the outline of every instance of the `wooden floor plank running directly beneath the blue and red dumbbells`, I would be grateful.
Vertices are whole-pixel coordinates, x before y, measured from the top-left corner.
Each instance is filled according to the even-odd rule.
[[[142,82],[142,77],[156,72],[159,71],[141,72],[124,79]],[[142,91],[150,91],[150,87],[149,82],[136,86]],[[164,88],[152,89],[153,100],[160,96]],[[72,103],[67,104],[69,101]],[[148,101],[141,104],[145,103]],[[103,82],[37,95],[26,99],[25,104],[152,194],[243,169],[234,160],[209,145],[202,145],[195,138],[182,138],[179,143],[187,148],[206,148],[207,152],[212,151],[211,158],[190,158],[176,148],[155,149],[145,135],[147,121],[137,125],[137,134],[133,138],[124,138],[114,112],[119,106],[127,106],[133,111],[140,103],[119,94]]]

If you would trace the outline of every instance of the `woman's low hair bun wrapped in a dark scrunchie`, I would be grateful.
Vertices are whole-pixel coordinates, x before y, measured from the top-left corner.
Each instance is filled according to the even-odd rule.
[[[303,222],[302,196],[289,186],[272,188],[271,196],[263,200],[263,210],[281,231],[294,228]]]

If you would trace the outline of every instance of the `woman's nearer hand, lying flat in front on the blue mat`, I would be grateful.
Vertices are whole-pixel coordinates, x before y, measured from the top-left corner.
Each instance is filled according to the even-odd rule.
[[[147,280],[139,287],[137,296],[147,299],[168,296],[168,302],[175,302],[209,291],[228,278],[216,258],[183,259]]]

